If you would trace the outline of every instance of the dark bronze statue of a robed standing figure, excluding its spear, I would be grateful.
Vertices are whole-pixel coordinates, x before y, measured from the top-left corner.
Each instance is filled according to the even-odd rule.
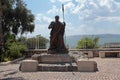
[[[64,44],[64,32],[65,32],[65,22],[61,23],[59,21],[59,16],[55,16],[55,21],[52,21],[49,25],[50,32],[50,48],[48,53],[67,53],[68,50]]]

